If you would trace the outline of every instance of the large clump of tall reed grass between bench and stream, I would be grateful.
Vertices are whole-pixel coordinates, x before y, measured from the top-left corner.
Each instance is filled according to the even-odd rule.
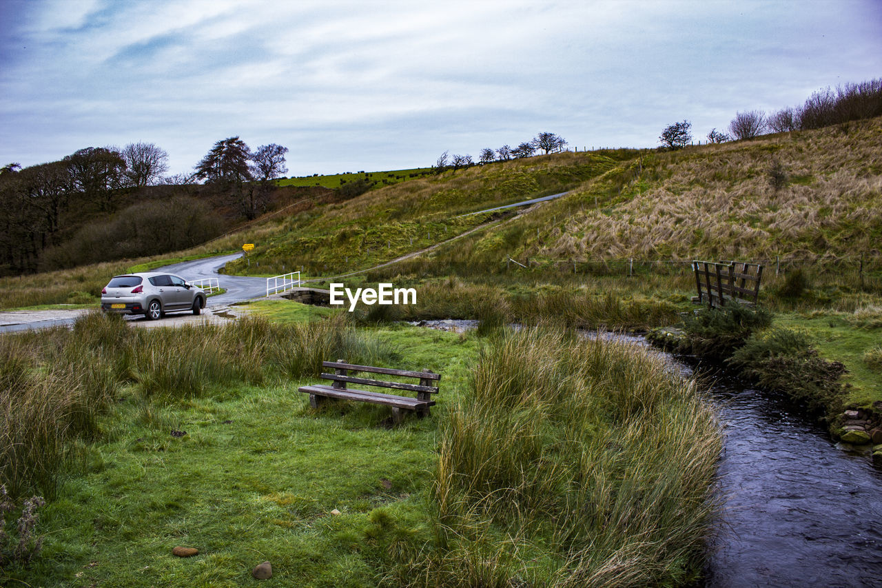
[[[443,426],[436,548],[401,585],[684,584],[714,522],[714,412],[627,343],[497,336]],[[404,554],[407,550],[401,550]]]

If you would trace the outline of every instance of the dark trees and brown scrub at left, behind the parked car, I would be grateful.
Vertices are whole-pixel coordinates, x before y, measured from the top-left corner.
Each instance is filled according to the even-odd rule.
[[[26,168],[9,163],[0,168],[0,275],[197,245],[224,225],[206,198],[255,218],[288,171],[286,153],[221,139],[193,173],[172,177],[168,153],[145,142],[86,147]]]

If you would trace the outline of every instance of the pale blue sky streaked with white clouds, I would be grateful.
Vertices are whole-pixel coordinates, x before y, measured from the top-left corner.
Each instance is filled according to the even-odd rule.
[[[291,175],[426,166],[556,132],[696,139],[882,77],[882,0],[0,0],[0,165],[145,141],[290,149]]]

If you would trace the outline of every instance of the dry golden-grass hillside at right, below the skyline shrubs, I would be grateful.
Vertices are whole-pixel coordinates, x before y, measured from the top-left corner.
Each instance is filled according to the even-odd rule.
[[[776,162],[788,177],[777,190]],[[882,119],[648,155],[639,169],[623,165],[565,200],[520,221],[527,237],[533,225],[546,229],[522,241],[524,254],[811,260],[878,253]],[[552,215],[566,220],[549,227]]]

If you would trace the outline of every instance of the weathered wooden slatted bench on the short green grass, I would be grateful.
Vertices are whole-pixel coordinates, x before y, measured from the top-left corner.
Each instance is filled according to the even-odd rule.
[[[343,400],[357,400],[363,403],[385,404],[392,407],[392,419],[395,423],[401,420],[401,411],[413,411],[418,418],[430,415],[430,406],[435,404],[432,395],[438,393],[437,382],[441,380],[441,374],[425,372],[409,372],[407,370],[393,370],[388,367],[356,366],[348,364],[342,359],[337,361],[323,361],[323,368],[333,369],[333,373],[322,373],[323,380],[332,381],[331,386],[316,384],[313,386],[301,386],[298,391],[310,395],[310,406],[318,408],[326,398],[341,398]],[[398,381],[373,380],[359,378],[349,373],[381,373],[399,378],[417,378],[419,384],[402,383]],[[408,390],[416,392],[416,397],[395,396],[384,392],[374,392],[348,388],[347,384],[359,386],[373,386],[377,388],[392,388],[395,390]]]

